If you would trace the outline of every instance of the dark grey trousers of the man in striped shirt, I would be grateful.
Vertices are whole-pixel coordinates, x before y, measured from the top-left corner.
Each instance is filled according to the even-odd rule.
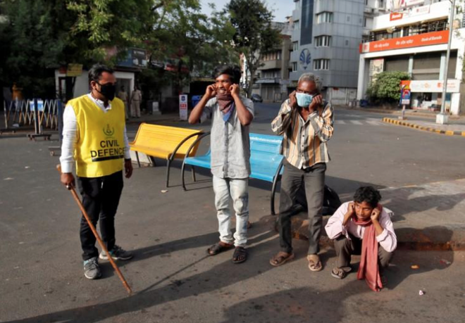
[[[305,184],[306,203],[309,210],[309,255],[318,253],[318,242],[323,224],[323,194],[325,190],[326,164],[318,163],[306,170],[299,170],[284,160],[284,172],[281,179],[279,204],[279,236],[280,247],[285,253],[292,253],[291,217],[292,206],[297,191]]]

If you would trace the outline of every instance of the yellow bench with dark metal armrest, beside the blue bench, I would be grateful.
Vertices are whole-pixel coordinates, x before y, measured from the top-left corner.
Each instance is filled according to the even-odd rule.
[[[139,167],[139,153],[167,160],[166,187],[168,187],[171,162],[175,158],[185,158],[187,150],[201,134],[203,134],[202,130],[150,125],[142,122],[137,130],[134,141],[130,142],[129,146],[136,153]],[[189,157],[195,156],[198,147],[199,142],[189,152]]]

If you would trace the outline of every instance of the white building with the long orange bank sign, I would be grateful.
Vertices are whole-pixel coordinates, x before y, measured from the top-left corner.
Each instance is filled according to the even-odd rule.
[[[390,13],[373,18],[367,42],[361,44],[357,99],[379,72],[402,70],[411,76],[411,108],[438,110],[442,103],[447,42],[452,32],[447,68],[446,110],[460,111],[460,89],[465,50],[463,1],[450,22],[451,2],[440,0],[390,1]]]

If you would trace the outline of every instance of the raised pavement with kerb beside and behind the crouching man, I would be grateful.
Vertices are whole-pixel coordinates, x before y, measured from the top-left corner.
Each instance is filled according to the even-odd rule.
[[[399,248],[417,251],[465,250],[465,179],[380,190],[394,212]],[[340,196],[349,201],[352,196]],[[292,220],[294,238],[308,240],[306,213]],[[328,221],[325,216],[323,225]],[[331,244],[323,232],[323,245]]]

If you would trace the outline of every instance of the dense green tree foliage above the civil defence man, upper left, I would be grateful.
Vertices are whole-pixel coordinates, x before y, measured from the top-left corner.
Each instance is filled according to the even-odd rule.
[[[237,61],[234,29],[218,13],[209,18],[199,11],[199,0],[0,0],[1,82],[18,83],[25,96],[54,96],[56,68],[114,65],[131,47],[210,75],[217,63]],[[145,74],[160,84],[189,77]]]

